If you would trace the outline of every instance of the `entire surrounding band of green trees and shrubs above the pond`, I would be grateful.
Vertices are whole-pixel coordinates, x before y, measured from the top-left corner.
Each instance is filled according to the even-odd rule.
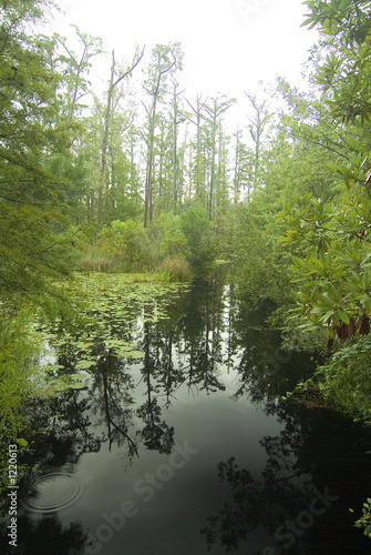
[[[220,260],[287,345],[327,344],[303,387],[370,420],[371,2],[305,3],[321,32],[309,92],[282,78],[247,91],[250,114],[230,130],[235,99],[187,98],[179,43],[120,62],[74,28],[73,51],[34,33],[49,0],[1,0],[2,427],[29,392],[30,315],[79,321],[60,286],[71,271],[186,281]]]

